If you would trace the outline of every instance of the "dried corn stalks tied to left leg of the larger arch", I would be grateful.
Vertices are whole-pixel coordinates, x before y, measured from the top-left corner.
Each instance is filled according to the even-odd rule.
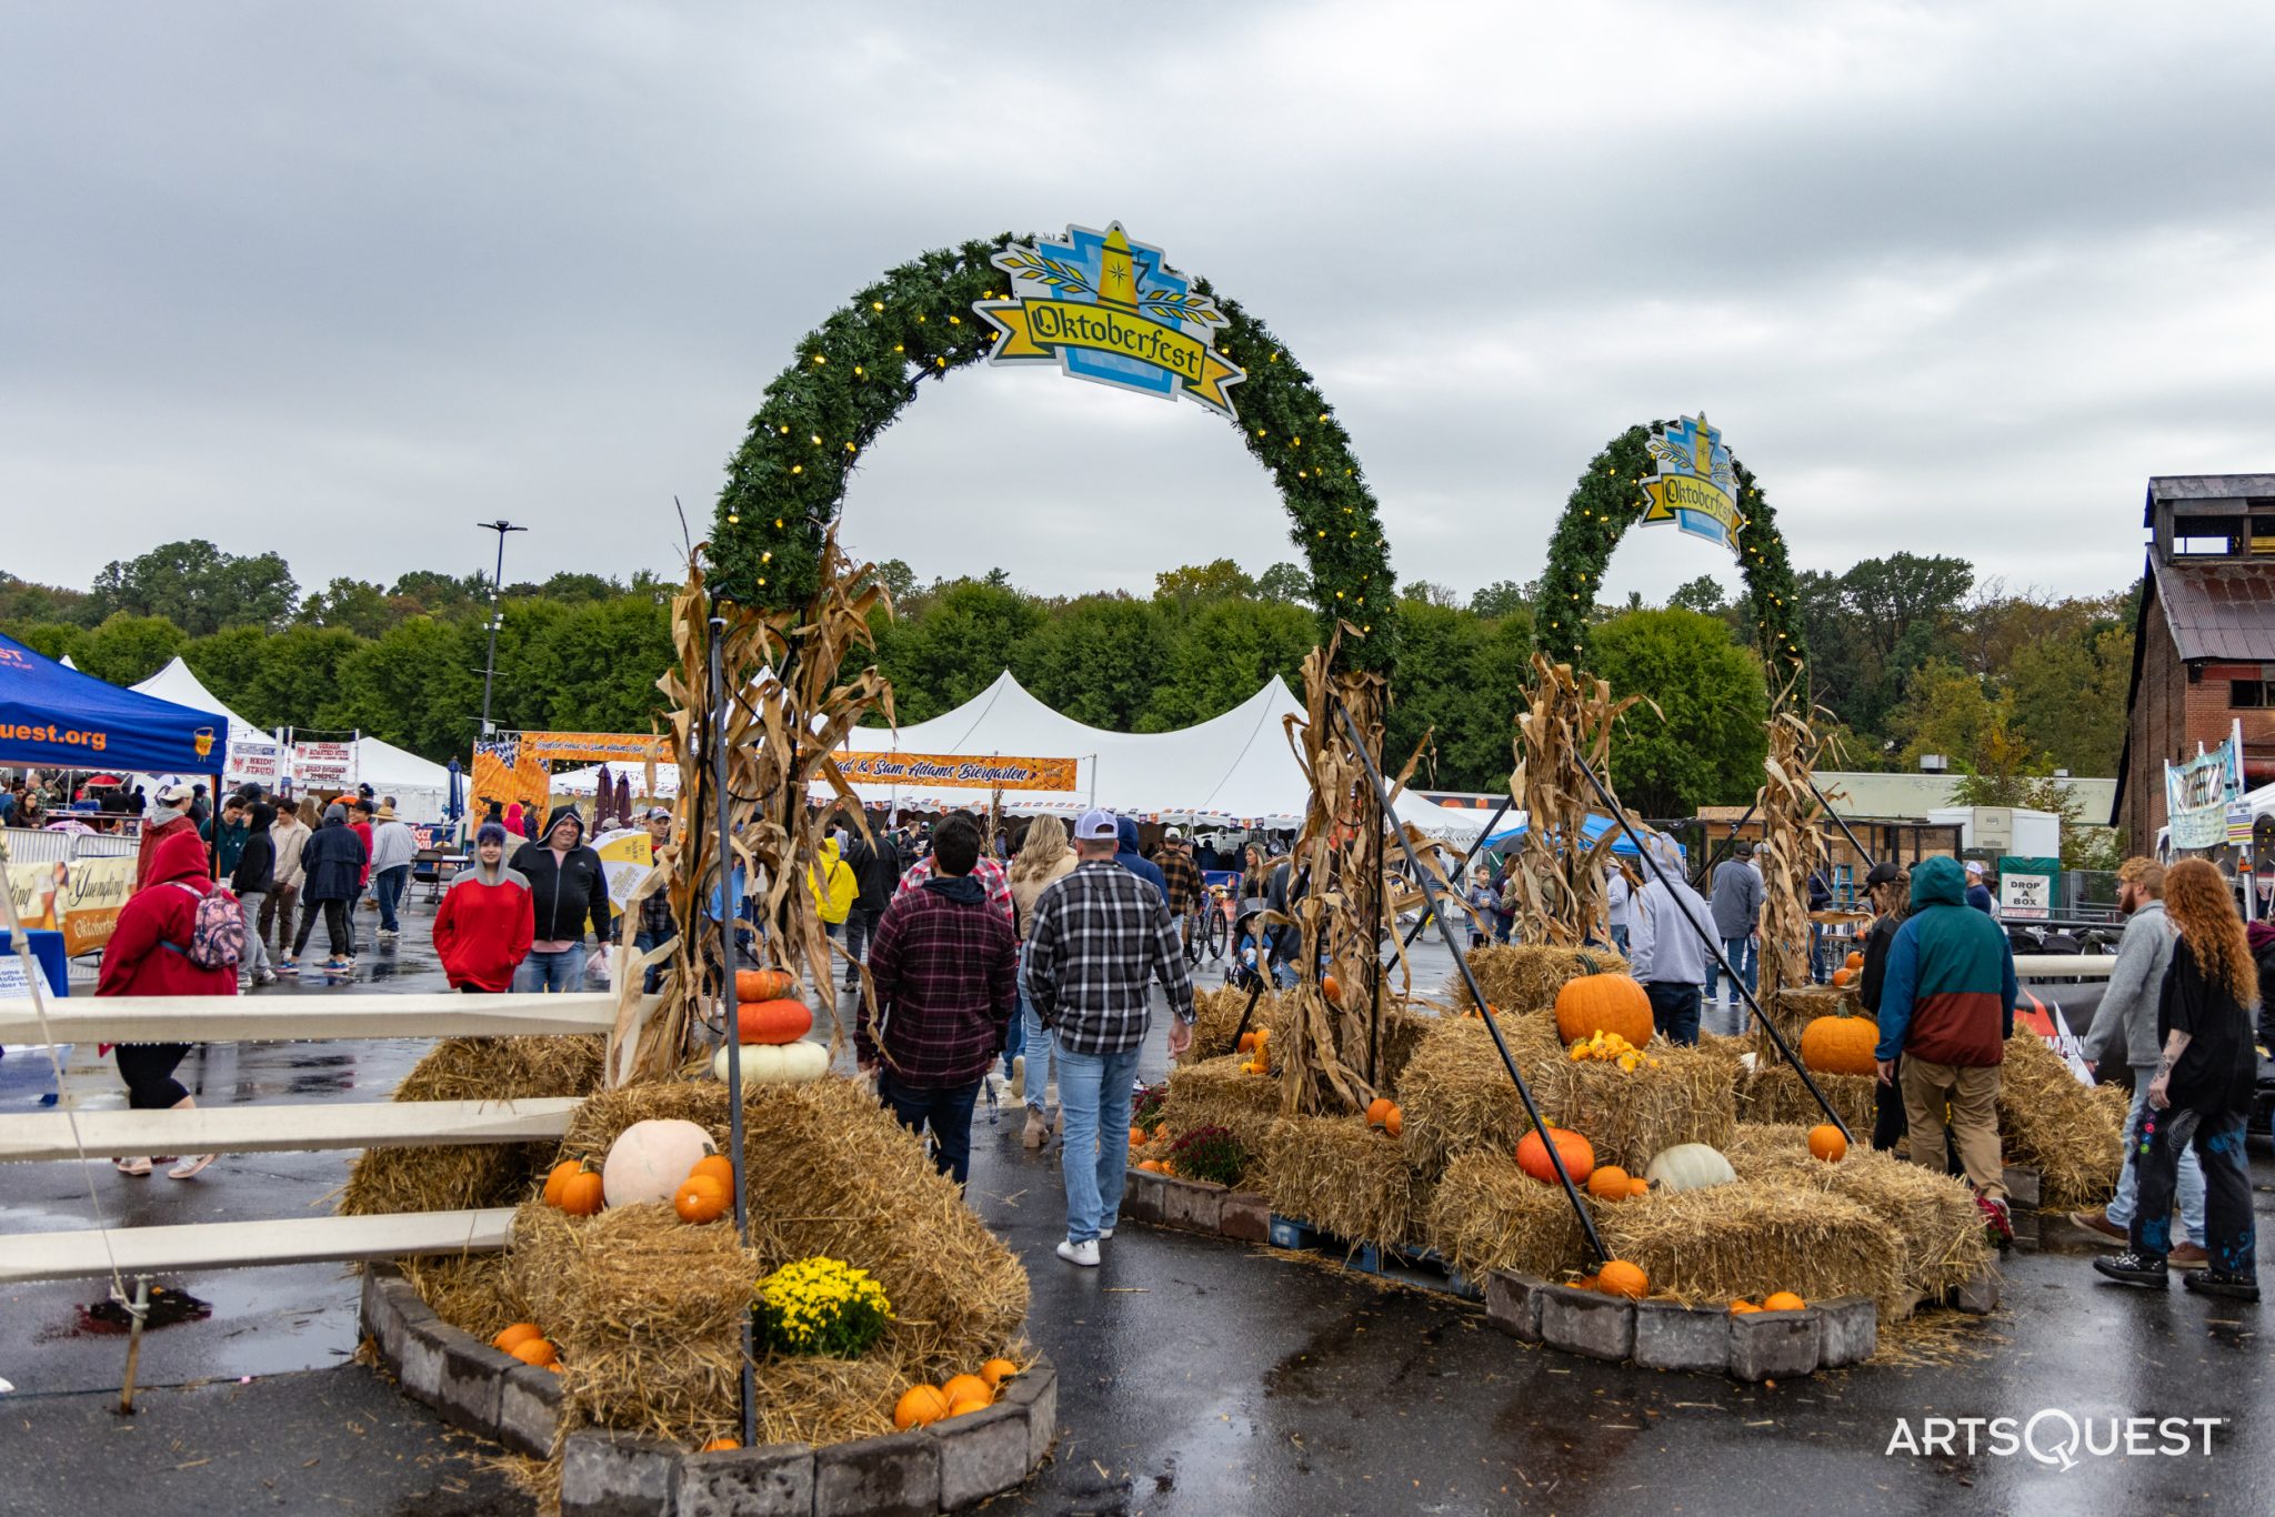
[[[892,716],[892,685],[864,669],[839,685],[837,669],[851,650],[874,648],[869,612],[887,605],[874,566],[851,564],[837,548],[835,530],[821,550],[821,589],[803,612],[755,612],[721,603],[712,607],[703,569],[692,562],[687,585],[671,603],[671,639],[678,660],[657,680],[671,696],[671,737],[680,762],[680,801],[673,837],[657,867],[635,892],[671,894],[680,935],[653,955],[619,951],[619,1008],[610,1039],[610,1085],[667,1078],[689,1053],[719,1033],[721,973],[733,960],[719,958],[719,912],[751,898],[764,937],[758,944],[767,967],[796,978],[812,976],[830,1017],[830,1053],[844,1042],[830,987],[835,985],[830,937],[814,912],[808,871],[819,855],[828,810],[808,807],[808,785],[826,780],[855,828],[867,832],[860,798],[837,771],[833,748],[871,710]],[[721,625],[712,623],[712,610]],[[721,637],[726,691],[728,778],[721,796],[712,773],[717,712],[710,701],[710,646]],[[733,851],[721,869],[719,807],[733,826]],[[726,876],[733,889],[721,889]],[[646,1012],[637,967],[667,960],[662,1003]],[[867,971],[862,971],[867,976]]]

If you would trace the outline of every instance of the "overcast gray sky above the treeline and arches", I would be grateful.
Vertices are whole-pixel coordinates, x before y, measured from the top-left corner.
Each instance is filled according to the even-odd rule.
[[[0,7],[0,569],[671,569],[878,271],[1119,218],[1317,373],[1401,578],[1540,573],[1704,409],[1795,559],[2098,591],[2275,469],[2264,5]],[[1238,400],[1238,389],[1233,391]],[[1192,403],[974,368],[846,537],[1035,591],[1297,557]],[[1633,532],[1606,598],[1727,553]]]

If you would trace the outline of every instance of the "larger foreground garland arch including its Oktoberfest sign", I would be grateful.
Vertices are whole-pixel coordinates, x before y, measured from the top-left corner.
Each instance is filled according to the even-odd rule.
[[[762,610],[803,607],[862,455],[924,380],[981,359],[1056,364],[1224,416],[1288,507],[1322,646],[1349,623],[1358,637],[1342,637],[1345,666],[1390,669],[1390,553],[1333,407],[1260,321],[1119,223],[1067,227],[1060,241],[1006,234],[926,252],[808,332],[728,462],[710,539],[714,591]]]

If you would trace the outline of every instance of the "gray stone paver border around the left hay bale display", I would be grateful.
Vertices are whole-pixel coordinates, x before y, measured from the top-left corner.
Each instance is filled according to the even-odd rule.
[[[1051,1453],[1058,1371],[1037,1358],[1003,1399],[849,1444],[692,1453],[630,1433],[562,1437],[562,1383],[435,1315],[394,1265],[364,1267],[364,1335],[405,1392],[514,1453],[562,1453],[562,1517],[933,1517],[1017,1490]]]

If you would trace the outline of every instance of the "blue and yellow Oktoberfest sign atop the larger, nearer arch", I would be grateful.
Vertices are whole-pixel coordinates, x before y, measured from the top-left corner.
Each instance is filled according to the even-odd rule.
[[[1012,243],[994,266],[1010,275],[1015,298],[971,307],[996,330],[990,364],[1058,364],[1076,380],[1163,400],[1192,396],[1235,416],[1224,391],[1247,375],[1208,346],[1224,312],[1119,221],[1103,232],[1069,225],[1062,243]]]

